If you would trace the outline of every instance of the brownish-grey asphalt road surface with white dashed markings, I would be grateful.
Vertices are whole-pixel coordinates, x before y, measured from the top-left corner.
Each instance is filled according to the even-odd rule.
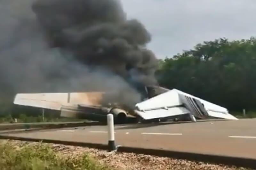
[[[107,144],[107,126],[5,134],[16,137]],[[115,125],[116,144],[256,159],[256,119]]]

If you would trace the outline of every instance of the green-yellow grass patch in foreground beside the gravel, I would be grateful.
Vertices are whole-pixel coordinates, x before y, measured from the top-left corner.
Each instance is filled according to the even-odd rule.
[[[25,144],[17,147],[9,142],[0,142],[1,170],[108,170],[105,165],[83,154],[63,156],[49,144]]]

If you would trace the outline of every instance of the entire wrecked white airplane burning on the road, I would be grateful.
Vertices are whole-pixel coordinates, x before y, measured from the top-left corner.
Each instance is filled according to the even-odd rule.
[[[86,118],[98,120],[96,115],[113,114],[117,122],[125,122],[128,117],[139,122],[161,121],[188,115],[190,120],[209,117],[238,120],[220,107],[177,89],[147,87],[148,98],[137,103],[135,109],[127,110],[118,106],[103,107],[104,92],[70,93],[18,93],[14,104],[60,111],[61,117]],[[95,117],[96,116],[96,117]],[[98,120],[100,121],[100,120]]]

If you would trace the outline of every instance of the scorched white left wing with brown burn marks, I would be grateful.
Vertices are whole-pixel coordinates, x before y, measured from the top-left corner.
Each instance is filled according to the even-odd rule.
[[[98,115],[108,113],[108,108],[102,108],[100,105],[103,94],[103,92],[18,93],[13,103],[59,110],[61,117],[101,120]]]

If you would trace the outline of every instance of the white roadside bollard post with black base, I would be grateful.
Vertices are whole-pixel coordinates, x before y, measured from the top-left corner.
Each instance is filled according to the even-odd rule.
[[[108,121],[108,149],[109,151],[115,151],[115,132],[114,132],[114,116],[112,114],[107,115]]]

